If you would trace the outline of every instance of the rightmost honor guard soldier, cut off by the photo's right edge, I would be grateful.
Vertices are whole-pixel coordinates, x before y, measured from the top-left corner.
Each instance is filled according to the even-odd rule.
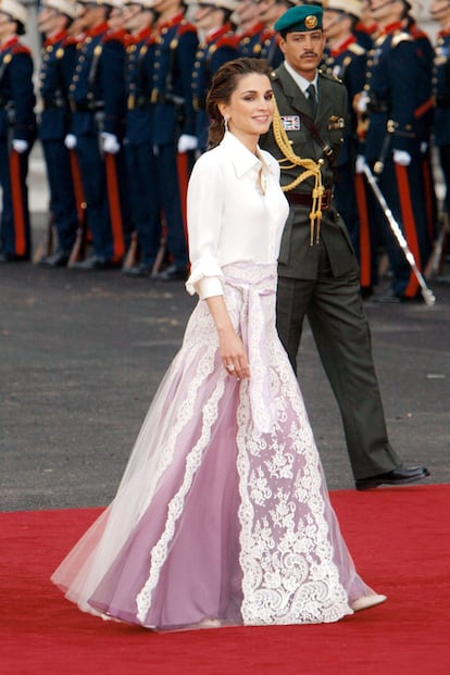
[[[445,223],[450,218],[450,0],[433,0],[430,13],[439,22],[435,47],[433,96],[435,99],[435,143],[442,171]]]

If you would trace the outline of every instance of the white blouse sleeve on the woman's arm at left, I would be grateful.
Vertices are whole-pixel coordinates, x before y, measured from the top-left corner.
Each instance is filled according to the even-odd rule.
[[[186,289],[204,300],[224,292],[224,275],[217,262],[224,177],[216,159],[208,152],[199,158],[189,179],[187,222],[191,271]]]

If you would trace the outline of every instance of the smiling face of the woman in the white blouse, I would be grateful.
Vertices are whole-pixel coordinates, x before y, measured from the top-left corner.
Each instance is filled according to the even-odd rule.
[[[238,78],[228,103],[218,107],[228,118],[229,130],[240,139],[268,130],[274,112],[274,95],[267,75],[250,73]]]

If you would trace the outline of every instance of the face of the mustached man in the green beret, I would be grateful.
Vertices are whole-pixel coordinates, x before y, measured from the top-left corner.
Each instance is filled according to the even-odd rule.
[[[322,30],[288,33],[285,39],[280,39],[279,47],[296,73],[305,79],[314,79],[325,47]]]

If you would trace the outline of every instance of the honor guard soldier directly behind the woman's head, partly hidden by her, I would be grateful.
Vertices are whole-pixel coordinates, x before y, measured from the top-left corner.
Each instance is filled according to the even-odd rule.
[[[210,120],[205,111],[207,93],[217,70],[237,57],[238,39],[232,29],[229,17],[237,8],[237,0],[200,0],[193,21],[203,34],[196,53],[192,72],[192,100],[197,114],[196,134],[198,148],[208,149]]]

